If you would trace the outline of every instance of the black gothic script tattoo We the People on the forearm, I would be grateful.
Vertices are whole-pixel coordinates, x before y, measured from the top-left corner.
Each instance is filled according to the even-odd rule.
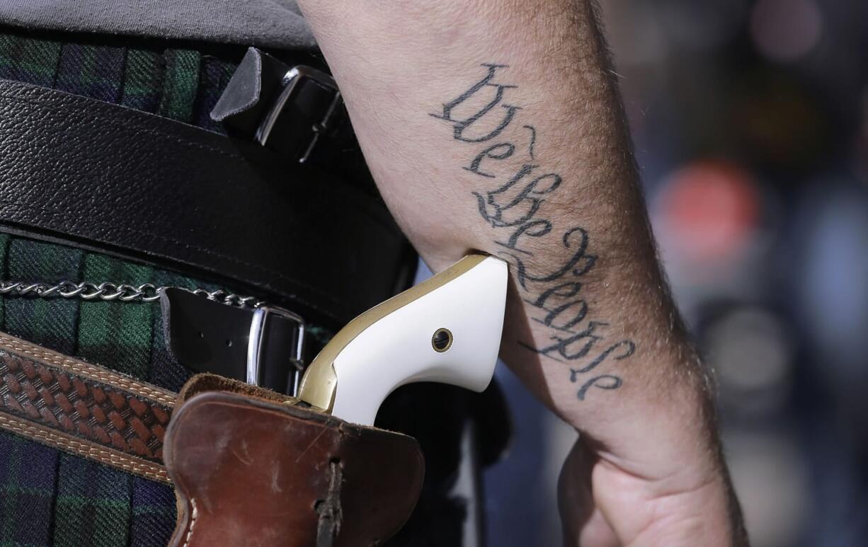
[[[508,101],[507,95],[517,86],[501,82],[509,67],[495,63],[482,67],[479,81],[431,116],[448,122],[452,138],[472,147],[464,169],[479,177],[479,192],[472,192],[479,216],[503,234],[495,241],[502,249],[498,254],[513,265],[524,302],[538,310],[531,319],[549,329],[550,343],[519,344],[567,365],[579,400],[592,388],[617,389],[623,384],[621,377],[601,374],[599,368],[608,360],[633,355],[635,342],[607,340],[608,323],[591,318],[582,296],[584,276],[597,259],[589,250],[588,231],[558,226],[545,214],[542,205],[561,186],[562,177],[536,163],[540,135],[532,124],[519,120],[522,107]],[[552,245],[568,256],[563,264],[549,270],[532,267],[532,250]]]

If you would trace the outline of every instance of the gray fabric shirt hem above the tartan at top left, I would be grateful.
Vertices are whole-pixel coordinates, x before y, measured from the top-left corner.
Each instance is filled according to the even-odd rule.
[[[276,49],[315,46],[294,0],[0,0],[0,23]]]

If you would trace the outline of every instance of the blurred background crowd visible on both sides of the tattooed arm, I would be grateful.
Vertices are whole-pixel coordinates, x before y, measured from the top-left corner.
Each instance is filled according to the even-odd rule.
[[[868,2],[601,0],[755,547],[868,544]],[[488,544],[559,545],[575,439],[503,366]]]

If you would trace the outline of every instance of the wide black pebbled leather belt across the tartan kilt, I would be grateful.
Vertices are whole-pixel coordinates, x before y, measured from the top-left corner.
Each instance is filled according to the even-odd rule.
[[[415,264],[385,206],[253,143],[0,81],[0,230],[193,270],[339,326]]]

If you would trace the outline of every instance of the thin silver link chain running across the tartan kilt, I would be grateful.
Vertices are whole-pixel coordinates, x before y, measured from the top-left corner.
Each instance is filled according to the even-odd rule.
[[[78,298],[81,300],[102,300],[111,302],[154,302],[163,290],[181,289],[195,295],[205,296],[208,300],[228,304],[237,308],[259,308],[266,303],[253,296],[239,296],[226,290],[186,289],[184,287],[158,287],[153,283],[129,285],[127,283],[73,283],[62,281],[54,285],[47,283],[22,283],[20,281],[0,282],[0,296],[39,296],[49,298]]]

